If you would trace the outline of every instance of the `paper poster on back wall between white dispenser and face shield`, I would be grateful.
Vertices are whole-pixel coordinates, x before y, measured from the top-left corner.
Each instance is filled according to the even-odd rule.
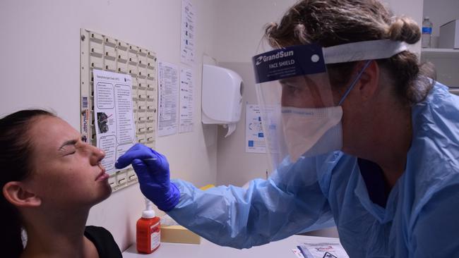
[[[246,152],[266,153],[260,108],[255,104],[246,105]]]

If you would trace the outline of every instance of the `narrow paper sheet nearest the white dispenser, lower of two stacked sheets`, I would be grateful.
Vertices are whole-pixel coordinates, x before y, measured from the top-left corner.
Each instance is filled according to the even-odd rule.
[[[180,69],[179,133],[193,131],[193,71]]]

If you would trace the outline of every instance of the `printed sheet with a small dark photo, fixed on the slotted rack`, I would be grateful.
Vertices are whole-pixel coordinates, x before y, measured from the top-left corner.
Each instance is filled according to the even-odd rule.
[[[131,75],[96,69],[93,74],[97,147],[104,150],[101,163],[112,174],[119,171],[115,161],[136,142]]]

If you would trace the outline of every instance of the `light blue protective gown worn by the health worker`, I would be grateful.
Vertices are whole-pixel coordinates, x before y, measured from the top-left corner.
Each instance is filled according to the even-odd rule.
[[[247,189],[174,180],[181,198],[168,214],[237,248],[336,225],[350,257],[459,257],[459,97],[436,83],[413,106],[412,127],[406,170],[385,208],[371,202],[357,158],[333,152],[282,164]]]

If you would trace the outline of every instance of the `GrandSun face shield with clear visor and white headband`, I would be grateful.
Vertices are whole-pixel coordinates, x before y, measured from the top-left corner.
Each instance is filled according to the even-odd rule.
[[[274,49],[252,58],[263,132],[272,168],[284,161],[342,147],[341,103],[371,60],[407,50],[389,39],[328,48],[317,44]],[[326,64],[366,61],[342,96],[334,96]],[[273,170],[273,169],[272,169]]]

